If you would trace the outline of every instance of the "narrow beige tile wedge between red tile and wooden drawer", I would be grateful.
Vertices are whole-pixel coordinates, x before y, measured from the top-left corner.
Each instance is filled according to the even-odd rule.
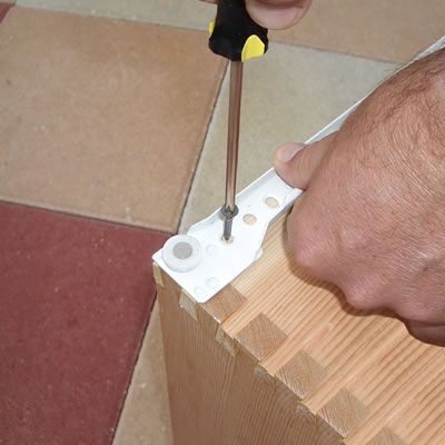
[[[171,445],[159,307],[151,313],[113,445]]]

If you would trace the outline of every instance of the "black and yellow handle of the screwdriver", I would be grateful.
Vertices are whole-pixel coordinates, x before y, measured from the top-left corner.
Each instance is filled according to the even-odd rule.
[[[245,0],[218,0],[216,19],[210,22],[209,32],[211,51],[233,61],[261,57],[269,43],[267,29],[250,18]]]

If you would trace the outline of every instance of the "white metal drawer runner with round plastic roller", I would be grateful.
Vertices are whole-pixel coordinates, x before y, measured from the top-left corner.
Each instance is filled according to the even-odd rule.
[[[358,102],[359,103],[359,102]],[[349,113],[345,111],[307,144],[338,130]],[[194,225],[187,235],[170,238],[154,261],[198,303],[215,296],[261,256],[261,245],[270,222],[301,195],[270,169],[237,196],[239,214],[234,218],[233,239],[222,239],[220,210]]]

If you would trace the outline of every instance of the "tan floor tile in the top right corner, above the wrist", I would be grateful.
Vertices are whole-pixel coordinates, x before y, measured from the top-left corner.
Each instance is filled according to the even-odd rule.
[[[395,62],[408,61],[445,33],[445,1],[315,0],[285,42]]]

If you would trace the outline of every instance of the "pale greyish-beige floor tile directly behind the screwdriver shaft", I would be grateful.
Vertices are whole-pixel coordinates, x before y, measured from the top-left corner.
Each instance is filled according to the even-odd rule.
[[[271,167],[275,149],[304,141],[390,75],[394,63],[276,43],[246,63],[238,190]],[[227,76],[180,225],[180,231],[222,205]]]

